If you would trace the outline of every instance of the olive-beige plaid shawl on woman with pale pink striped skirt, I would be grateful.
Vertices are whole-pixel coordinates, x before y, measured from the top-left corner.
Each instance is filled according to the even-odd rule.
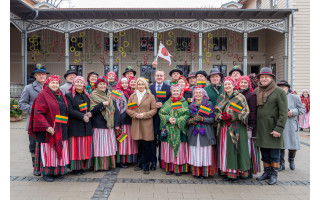
[[[104,101],[109,101],[109,105],[101,113],[104,119],[107,121],[107,128],[111,129],[114,127],[115,107],[113,105],[110,91],[108,91],[106,94],[99,89],[94,90],[90,95],[90,110],[93,110],[96,105]]]

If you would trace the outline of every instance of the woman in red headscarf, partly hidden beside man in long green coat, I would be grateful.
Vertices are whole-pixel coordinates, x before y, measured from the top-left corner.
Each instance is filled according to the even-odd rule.
[[[238,91],[246,98],[249,106],[250,114],[248,118],[248,145],[251,158],[251,170],[248,178],[252,178],[252,174],[260,172],[260,151],[256,146],[257,132],[257,95],[253,92],[251,81],[248,76],[241,76],[237,84]]]

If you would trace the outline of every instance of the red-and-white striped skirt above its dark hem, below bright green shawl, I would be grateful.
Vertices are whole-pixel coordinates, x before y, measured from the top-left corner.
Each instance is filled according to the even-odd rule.
[[[174,158],[174,152],[168,142],[161,142],[161,160],[165,163],[173,163],[182,165],[188,163],[188,143],[181,142],[177,152],[177,157]]]

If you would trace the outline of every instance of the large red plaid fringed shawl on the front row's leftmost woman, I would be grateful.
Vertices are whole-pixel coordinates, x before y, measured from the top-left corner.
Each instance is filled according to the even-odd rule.
[[[61,94],[61,91],[59,89]],[[67,107],[68,116],[68,103],[66,97],[61,95]],[[55,123],[56,115],[60,115],[59,104],[54,93],[50,88],[44,86],[37,98],[33,101],[28,134],[36,140],[37,134],[46,134],[46,143],[53,145],[58,158],[62,156],[62,128],[61,123]],[[54,127],[54,134],[51,135],[46,130],[48,127]]]

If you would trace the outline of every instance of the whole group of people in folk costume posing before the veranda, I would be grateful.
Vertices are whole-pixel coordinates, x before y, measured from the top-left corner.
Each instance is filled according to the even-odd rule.
[[[62,86],[58,75],[46,79],[42,64],[33,74],[19,107],[28,113],[34,175],[45,181],[63,178],[67,168],[83,175],[135,164],[149,174],[159,163],[166,175],[219,173],[236,183],[261,171],[261,153],[264,173],[257,180],[275,184],[284,149],[294,169],[297,116],[306,108],[288,82],[276,84],[270,68],[244,76],[235,66],[228,77],[217,68],[187,77],[173,69],[168,84],[164,71],[156,71],[152,85],[131,66],[119,79],[90,72],[85,80],[68,70]]]

